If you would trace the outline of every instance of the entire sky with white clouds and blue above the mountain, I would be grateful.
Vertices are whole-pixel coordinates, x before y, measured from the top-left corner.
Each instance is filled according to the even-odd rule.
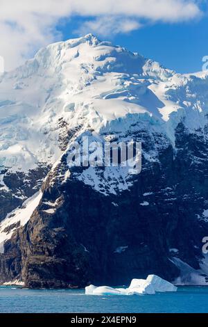
[[[208,56],[208,0],[0,0],[0,56],[12,70],[51,42],[93,33],[180,73]]]

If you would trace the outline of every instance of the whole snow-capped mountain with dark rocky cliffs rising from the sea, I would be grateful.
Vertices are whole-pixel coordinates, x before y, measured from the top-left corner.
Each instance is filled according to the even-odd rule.
[[[208,74],[94,35],[0,77],[0,280],[205,285]],[[73,141],[139,141],[141,173],[69,167]]]

